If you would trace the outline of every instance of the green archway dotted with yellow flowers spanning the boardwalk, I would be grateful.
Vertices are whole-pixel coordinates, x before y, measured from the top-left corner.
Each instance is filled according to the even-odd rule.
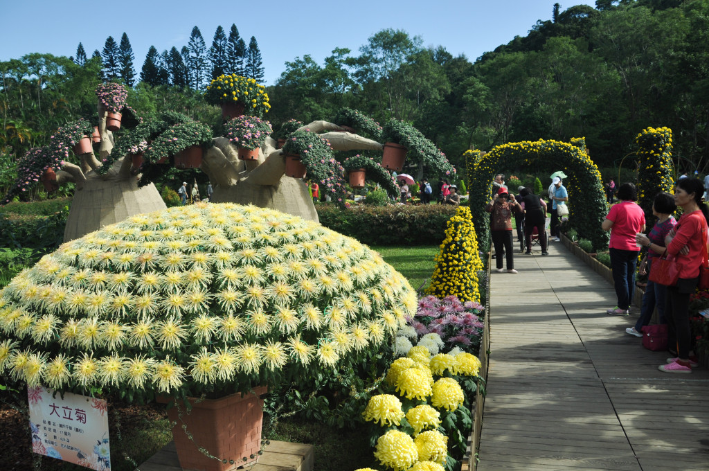
[[[608,214],[601,172],[588,157],[584,138],[571,139],[571,143],[525,140],[498,145],[489,153],[469,150],[466,160],[470,209],[482,250],[490,247],[490,217],[485,206],[490,201],[495,174],[500,169],[524,167],[548,170],[549,174],[563,170],[568,175],[564,187],[569,192],[569,227],[591,240],[594,248],[608,247],[609,235],[601,229]]]

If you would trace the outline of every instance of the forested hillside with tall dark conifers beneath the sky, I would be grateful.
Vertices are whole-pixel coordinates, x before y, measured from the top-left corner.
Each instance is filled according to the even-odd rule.
[[[267,87],[266,118],[331,119],[349,106],[380,122],[403,119],[457,165],[473,146],[585,136],[598,166],[613,167],[642,128],[668,126],[680,170],[707,172],[709,2],[598,0],[595,9],[549,9],[552,20],[530,18],[525,37],[476,59],[454,57],[446,45],[425,48],[425,38],[392,29],[357,51],[333,43],[323,63],[294,57]],[[0,62],[0,186],[28,148],[62,123],[96,115],[93,91],[103,80],[130,85],[128,103],[143,116],[172,109],[216,131],[218,110],[201,98],[210,79],[263,76],[256,38],[247,45],[235,25],[229,33],[220,26],[209,48],[195,26],[187,45],[151,48],[142,67],[134,61],[124,33],[91,57],[79,45],[67,57],[38,52]]]

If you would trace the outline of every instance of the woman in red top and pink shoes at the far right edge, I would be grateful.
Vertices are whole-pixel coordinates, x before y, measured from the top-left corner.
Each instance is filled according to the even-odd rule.
[[[689,327],[689,295],[699,281],[699,267],[707,253],[705,238],[709,211],[702,202],[704,184],[697,178],[683,178],[674,189],[674,202],[683,212],[676,228],[665,238],[666,253],[674,255],[680,264],[679,279],[675,286],[667,287],[665,318],[668,323],[669,342],[677,346],[677,357],[668,358],[659,370],[667,373],[691,373],[696,358],[690,357],[691,331]],[[686,247],[686,249],[684,249]]]

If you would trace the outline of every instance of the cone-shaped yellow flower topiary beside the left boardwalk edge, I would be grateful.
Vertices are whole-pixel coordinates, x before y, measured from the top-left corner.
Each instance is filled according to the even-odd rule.
[[[448,221],[440,250],[427,293],[438,298],[455,296],[460,301],[479,301],[477,272],[482,270],[483,262],[467,206],[459,206]]]

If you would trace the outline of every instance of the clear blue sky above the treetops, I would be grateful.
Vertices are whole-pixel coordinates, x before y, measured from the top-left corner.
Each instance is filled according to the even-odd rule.
[[[0,60],[30,52],[74,55],[84,45],[87,55],[103,50],[108,36],[120,42],[123,32],[135,54],[140,73],[150,45],[158,51],[181,49],[197,26],[211,45],[217,26],[228,33],[232,23],[248,44],[255,36],[261,50],[266,84],[273,84],[284,63],[310,54],[322,65],[334,48],[357,55],[367,39],[384,28],[419,35],[425,46],[442,45],[452,55],[474,61],[484,52],[524,36],[537,20],[552,17],[554,0],[438,0],[438,1],[135,1],[115,8],[101,0],[38,0],[26,4],[3,2]],[[579,4],[561,4],[561,11]],[[217,6],[219,5],[219,6]]]

